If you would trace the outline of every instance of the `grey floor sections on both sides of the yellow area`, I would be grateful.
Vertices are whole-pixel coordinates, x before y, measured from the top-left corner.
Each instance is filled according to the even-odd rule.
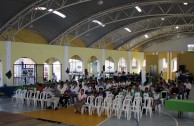
[[[194,100],[194,90],[191,90],[190,98]],[[28,107],[24,105],[19,108],[15,103],[11,103],[11,99],[0,99],[0,111],[11,113],[22,113],[30,111],[42,110],[37,107]],[[126,120],[125,118],[117,119],[115,117],[108,118],[98,124],[98,126],[194,126],[194,113],[184,112],[184,118],[178,119],[176,111],[165,110],[162,108],[162,112],[153,112],[152,118],[148,115],[143,115],[142,119],[137,122],[136,119]],[[98,118],[98,117],[96,117]]]

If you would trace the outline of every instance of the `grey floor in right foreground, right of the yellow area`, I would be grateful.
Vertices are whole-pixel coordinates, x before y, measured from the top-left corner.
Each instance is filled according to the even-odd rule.
[[[191,90],[189,99],[194,100],[194,89]],[[162,108],[160,114],[155,111],[152,118],[143,115],[139,122],[135,118],[128,121],[125,118],[111,117],[101,122],[99,126],[194,126],[194,113],[184,112],[184,118],[178,119],[176,111]]]

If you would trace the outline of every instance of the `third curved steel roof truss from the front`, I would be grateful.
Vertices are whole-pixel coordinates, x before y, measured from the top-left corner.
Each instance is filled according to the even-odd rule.
[[[192,20],[187,21],[186,18],[191,17]],[[173,20],[173,22],[171,22],[171,20]],[[181,21],[181,22],[180,22]],[[131,29],[131,33],[127,33],[127,31],[124,30],[124,27],[111,32],[111,34],[109,34],[108,36],[104,36],[103,38],[101,38],[98,42],[102,41],[103,39],[108,39],[110,42],[110,44],[113,43],[120,43],[122,39],[129,37],[129,36],[135,36],[137,33],[146,33],[149,30],[154,30],[154,29],[159,29],[159,28],[163,28],[163,27],[169,27],[169,26],[179,26],[179,25],[185,25],[185,26],[189,26],[189,25],[193,25],[194,24],[194,15],[190,15],[190,16],[184,16],[184,15],[174,15],[174,16],[170,16],[170,17],[166,17],[165,21],[162,21],[160,17],[157,18],[151,18],[151,19],[146,19],[146,20],[142,20],[124,27],[128,27]],[[114,34],[117,31],[123,30],[126,32],[126,34],[124,34],[122,37],[120,38],[112,38],[112,36],[114,36]],[[122,46],[125,43],[120,43],[120,45],[116,48],[119,48],[120,46]]]

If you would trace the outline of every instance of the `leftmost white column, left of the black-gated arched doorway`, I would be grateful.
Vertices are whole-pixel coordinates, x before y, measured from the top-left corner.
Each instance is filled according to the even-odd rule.
[[[7,73],[9,70],[12,72],[12,77],[13,77],[13,71],[11,68],[11,41],[6,41],[6,64],[5,64],[5,73]],[[12,79],[12,78],[10,78]],[[6,77],[6,84],[8,85],[13,85],[11,84],[11,80]]]

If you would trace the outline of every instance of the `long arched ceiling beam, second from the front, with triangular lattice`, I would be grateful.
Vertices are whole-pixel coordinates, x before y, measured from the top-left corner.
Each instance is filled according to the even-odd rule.
[[[190,1],[190,3],[192,4],[194,1]],[[182,9],[177,10],[176,12],[173,12],[171,10],[173,10],[175,7],[179,6],[179,4],[182,4],[181,0],[173,0],[173,1],[168,1],[168,0],[159,0],[159,1],[145,1],[142,3],[131,3],[128,5],[123,5],[123,6],[119,6],[116,8],[112,8],[112,9],[108,9],[105,10],[103,12],[91,15],[90,17],[80,21],[79,23],[76,23],[75,25],[73,25],[72,27],[70,27],[69,29],[64,29],[64,32],[62,32],[61,34],[59,34],[58,36],[56,36],[55,38],[53,38],[50,41],[50,44],[54,44],[57,40],[59,40],[63,35],[68,35],[68,34],[73,34],[74,38],[72,38],[71,40],[69,40],[68,43],[72,42],[73,40],[75,40],[76,38],[86,34],[87,32],[90,32],[91,30],[94,30],[96,28],[99,28],[100,26],[91,26],[91,22],[92,20],[96,19],[100,19],[100,18],[104,18],[105,22],[103,22],[105,25],[111,24],[111,23],[115,23],[115,22],[119,22],[119,21],[123,21],[123,20],[129,20],[129,19],[134,19],[134,18],[140,18],[140,17],[144,17],[144,16],[151,16],[151,15],[156,15],[153,14],[155,13],[155,10],[153,9],[153,7],[150,7],[149,11],[144,11],[140,14],[139,16],[134,15],[134,12],[136,12],[137,10],[135,9],[135,6],[140,6],[140,7],[146,7],[146,6],[157,6],[160,13],[158,13],[158,15],[160,16],[166,16],[166,15],[171,15],[171,14],[191,14],[189,10],[194,9],[194,6],[189,6],[187,8],[186,11],[182,11]],[[161,5],[165,5],[165,4],[170,4],[169,8],[167,11],[165,11],[165,9],[163,8],[163,6]],[[174,7],[174,4],[176,4],[176,6]],[[126,10],[130,10],[128,11],[128,13],[126,13]],[[114,14],[114,16],[112,16]],[[118,18],[120,15],[125,15],[124,18]],[[81,27],[86,27],[85,31],[79,32],[79,29]],[[105,26],[106,27],[106,26]],[[92,45],[89,45],[88,47],[91,47]]]

